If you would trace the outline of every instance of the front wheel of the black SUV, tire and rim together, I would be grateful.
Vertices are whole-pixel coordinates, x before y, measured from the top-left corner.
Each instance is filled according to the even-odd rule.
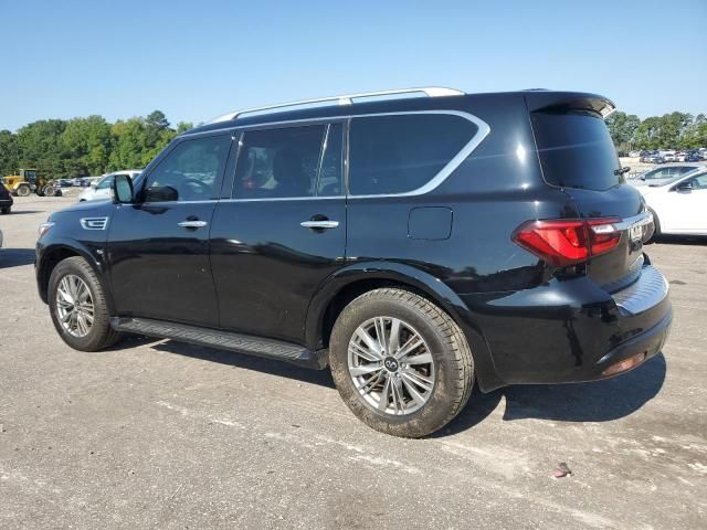
[[[120,338],[110,327],[103,286],[83,257],[68,257],[54,267],[49,307],[56,331],[76,350],[97,351]]]

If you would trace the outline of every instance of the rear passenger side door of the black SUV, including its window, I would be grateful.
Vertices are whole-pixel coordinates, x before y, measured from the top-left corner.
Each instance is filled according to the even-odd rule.
[[[249,129],[213,216],[225,329],[304,343],[309,301],[345,264],[344,124]]]

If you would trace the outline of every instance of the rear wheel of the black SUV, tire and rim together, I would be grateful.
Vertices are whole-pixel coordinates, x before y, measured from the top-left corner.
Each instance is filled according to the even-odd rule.
[[[415,332],[423,343],[410,351],[412,356],[395,359],[397,354],[389,351],[376,356],[374,362],[368,363],[360,357],[361,348],[355,344],[368,344],[367,340],[361,340],[360,331],[366,331],[373,321],[374,336],[372,332],[368,335],[369,338],[378,337],[377,322],[383,322],[382,335],[389,338],[383,342],[387,342],[386,348],[393,350],[395,341],[390,337],[394,335],[391,330],[395,319],[399,320],[399,344],[409,344],[408,340],[414,339]],[[395,349],[399,353],[402,353],[401,350],[404,348]],[[368,349],[366,354],[371,351]],[[432,363],[415,362],[418,357],[423,359],[421,356],[431,358]],[[391,361],[391,357],[395,360]],[[366,363],[361,364],[361,360]],[[389,370],[389,363],[392,371]],[[400,288],[370,290],[344,308],[329,340],[329,364],[341,399],[359,420],[382,433],[409,438],[426,436],[452,421],[468,401],[474,384],[472,352],[458,326],[430,300]],[[378,369],[379,365],[388,368]],[[372,369],[370,379],[367,379],[368,373],[359,373],[369,369]],[[430,390],[411,383],[413,370],[414,379],[419,375],[425,378]],[[371,384],[377,377],[382,379]],[[398,401],[395,391],[383,380],[390,380],[391,388],[397,385],[402,389]],[[413,399],[411,388],[418,394],[416,399]]]

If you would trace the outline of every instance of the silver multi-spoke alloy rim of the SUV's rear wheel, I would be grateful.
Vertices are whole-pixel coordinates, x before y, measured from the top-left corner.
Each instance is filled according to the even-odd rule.
[[[411,414],[434,390],[434,359],[422,336],[394,317],[361,324],[349,340],[348,370],[363,400],[379,412]]]

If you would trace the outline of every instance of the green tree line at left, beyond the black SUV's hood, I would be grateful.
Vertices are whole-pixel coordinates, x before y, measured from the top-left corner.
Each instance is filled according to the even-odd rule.
[[[0,177],[34,168],[48,178],[98,176],[144,168],[192,124],[170,127],[163,113],[108,123],[103,116],[41,119],[17,132],[0,130]]]

